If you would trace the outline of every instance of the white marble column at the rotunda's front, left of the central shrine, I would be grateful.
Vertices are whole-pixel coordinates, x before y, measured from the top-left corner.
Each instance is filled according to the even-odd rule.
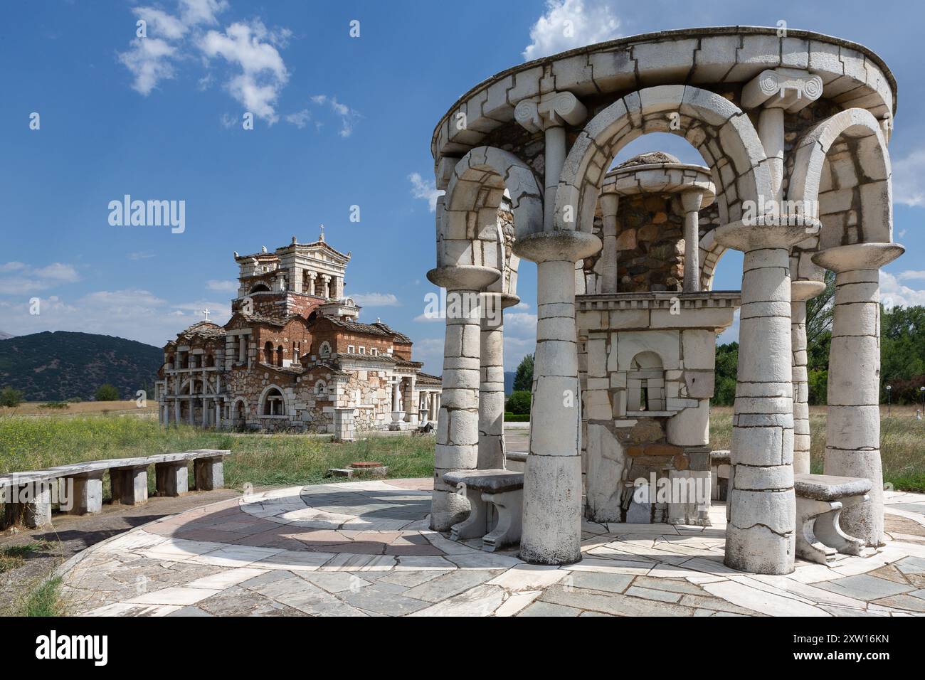
[[[530,449],[524,475],[521,559],[568,564],[581,559],[581,392],[575,337],[577,260],[598,253],[580,231],[534,233],[514,252],[536,262],[536,354]]]

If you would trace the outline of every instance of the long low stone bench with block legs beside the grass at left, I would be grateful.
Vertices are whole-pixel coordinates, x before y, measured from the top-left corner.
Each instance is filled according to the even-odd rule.
[[[87,461],[2,475],[3,525],[22,524],[33,529],[51,525],[55,502],[62,506],[62,512],[69,514],[101,512],[103,476],[107,470],[113,501],[125,505],[137,505],[148,500],[148,467],[152,464],[158,496],[179,496],[189,490],[190,461],[195,488],[203,491],[222,488],[225,486],[223,461],[230,453],[220,449],[197,449]]]

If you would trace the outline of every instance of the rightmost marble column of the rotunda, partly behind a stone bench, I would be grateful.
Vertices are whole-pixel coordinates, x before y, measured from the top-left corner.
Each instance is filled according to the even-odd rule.
[[[855,243],[820,251],[835,272],[826,418],[826,475],[866,477],[870,501],[846,508],[841,525],[869,546],[883,543],[880,460],[880,267],[905,251],[898,243]]]

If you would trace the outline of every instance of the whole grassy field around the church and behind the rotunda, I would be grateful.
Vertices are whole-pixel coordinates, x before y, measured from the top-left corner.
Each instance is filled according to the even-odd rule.
[[[64,417],[48,415],[48,410],[43,413],[46,417],[0,417],[0,474],[191,449],[233,451],[225,470],[226,482],[233,488],[332,481],[326,477],[328,468],[346,467],[353,461],[386,464],[391,477],[433,474],[433,437],[374,436],[335,444],[324,437],[297,434],[213,432],[185,425],[163,429],[150,417],[112,412]],[[812,471],[820,473],[825,451],[824,406],[810,409],[809,424]],[[714,407],[711,447],[729,449],[731,443],[732,408]],[[885,482],[895,488],[925,491],[925,420],[915,418],[914,407],[894,407],[890,416],[885,407],[882,409],[881,452]]]

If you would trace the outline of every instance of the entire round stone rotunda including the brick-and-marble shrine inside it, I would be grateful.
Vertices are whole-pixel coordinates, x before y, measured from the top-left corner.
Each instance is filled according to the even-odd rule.
[[[538,316],[524,560],[581,559],[583,514],[697,521],[689,508],[627,504],[621,485],[633,466],[709,475],[712,344],[736,306],[726,563],[792,572],[806,541],[798,499],[833,502],[848,488],[860,495],[844,512],[834,503],[839,535],[881,545],[878,274],[903,252],[887,151],[895,92],[857,43],[723,27],[545,57],[452,105],[431,144],[445,196],[428,278],[448,300],[482,304],[448,306],[431,527],[475,510],[444,476],[499,468],[503,405],[489,397],[503,327],[484,311],[514,300],[522,257],[536,262]],[[644,155],[610,170],[649,132],[683,137],[704,167]],[[506,196],[512,226],[499,217]],[[741,292],[711,290],[728,248],[745,253]],[[805,318],[825,269],[836,292],[820,480],[806,475]],[[643,422],[644,440],[626,437]]]

